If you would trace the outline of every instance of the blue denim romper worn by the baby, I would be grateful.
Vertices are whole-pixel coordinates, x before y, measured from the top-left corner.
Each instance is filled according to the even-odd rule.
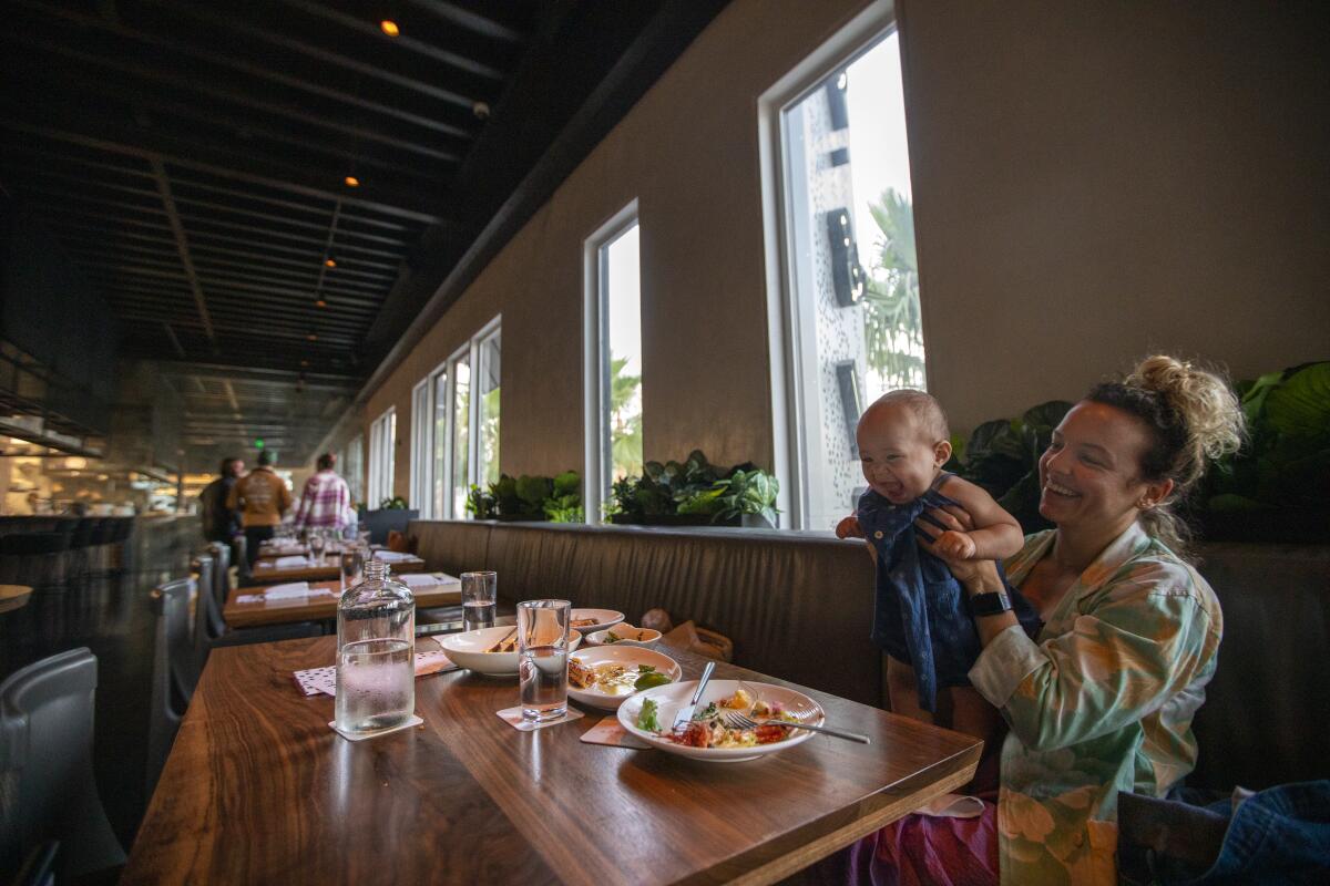
[[[904,505],[892,505],[870,489],[855,511],[859,529],[878,553],[872,642],[914,667],[919,705],[930,713],[936,711],[938,687],[970,685],[967,675],[983,648],[960,582],[943,561],[915,543],[911,531],[924,510],[956,505],[938,491],[952,476],[943,472],[928,491]],[[1001,563],[998,574],[1016,618],[1033,638],[1040,628],[1035,607],[1007,584]]]

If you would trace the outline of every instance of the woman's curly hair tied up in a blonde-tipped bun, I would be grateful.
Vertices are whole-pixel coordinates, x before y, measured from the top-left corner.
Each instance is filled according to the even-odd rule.
[[[1181,557],[1190,531],[1173,511],[1177,501],[1205,476],[1214,458],[1242,445],[1242,408],[1220,375],[1174,357],[1146,357],[1123,381],[1095,385],[1092,402],[1121,409],[1140,418],[1153,442],[1141,457],[1141,478],[1173,481],[1173,491],[1141,511],[1141,523]]]

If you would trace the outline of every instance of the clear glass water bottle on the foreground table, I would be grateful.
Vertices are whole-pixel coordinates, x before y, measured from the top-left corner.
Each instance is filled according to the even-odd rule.
[[[336,607],[336,727],[391,729],[415,712],[415,598],[379,561]]]

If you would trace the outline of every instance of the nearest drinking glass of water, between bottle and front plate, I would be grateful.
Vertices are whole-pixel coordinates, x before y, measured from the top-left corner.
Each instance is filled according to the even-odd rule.
[[[517,603],[521,716],[529,723],[568,713],[568,600]]]

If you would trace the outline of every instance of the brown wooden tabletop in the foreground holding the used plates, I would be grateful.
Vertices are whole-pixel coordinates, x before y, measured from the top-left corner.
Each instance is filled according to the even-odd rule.
[[[803,689],[872,744],[700,762],[579,741],[596,712],[517,732],[495,716],[516,677],[467,671],[416,680],[423,725],[352,743],[291,679],[334,651],[213,651],[121,883],[767,883],[960,786],[982,748]]]

